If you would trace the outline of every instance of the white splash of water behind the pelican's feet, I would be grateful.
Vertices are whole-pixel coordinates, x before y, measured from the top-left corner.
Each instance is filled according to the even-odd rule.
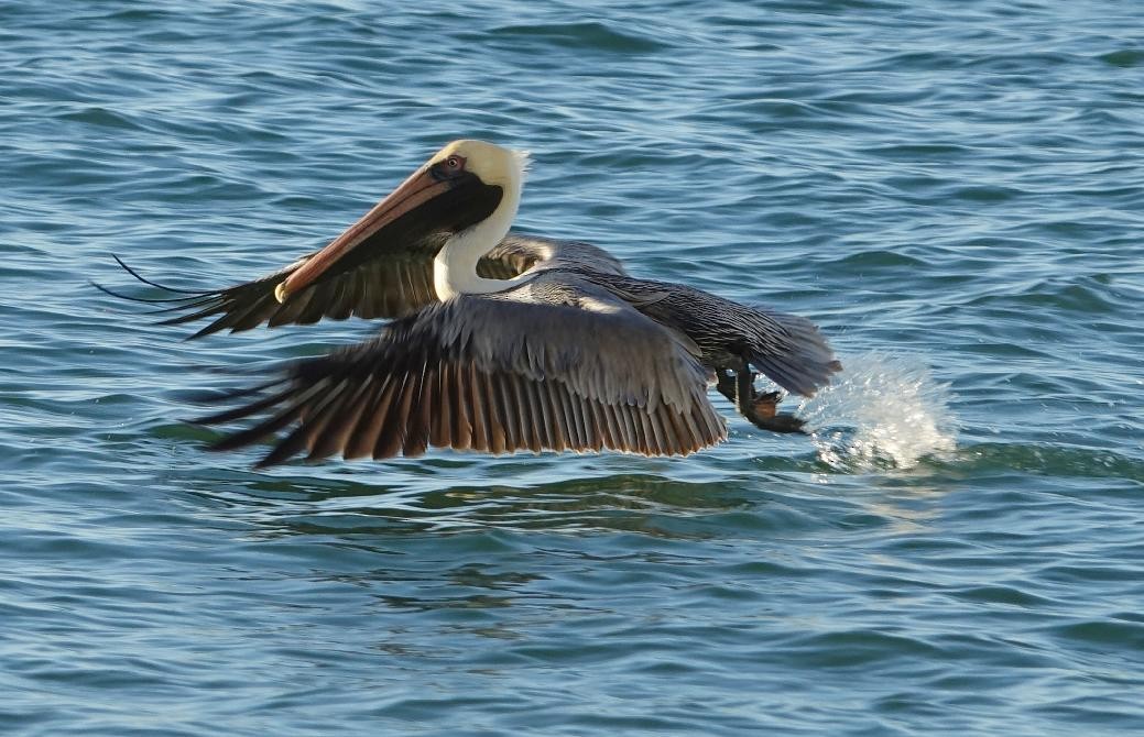
[[[911,468],[956,447],[950,386],[920,359],[869,352],[842,363],[834,383],[797,412],[823,463],[848,472]]]

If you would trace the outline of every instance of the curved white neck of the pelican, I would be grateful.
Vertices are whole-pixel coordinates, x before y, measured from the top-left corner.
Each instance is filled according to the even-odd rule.
[[[531,274],[521,274],[514,279],[485,279],[477,275],[477,262],[508,235],[508,229],[516,219],[516,208],[521,203],[521,189],[524,184],[523,155],[518,161],[521,163],[517,170],[501,185],[503,194],[493,214],[451,237],[434,258],[434,289],[442,302],[458,295],[502,291],[531,278]]]

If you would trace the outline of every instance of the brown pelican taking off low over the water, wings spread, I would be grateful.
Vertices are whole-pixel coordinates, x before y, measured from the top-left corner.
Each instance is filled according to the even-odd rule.
[[[688,455],[726,438],[712,379],[756,426],[800,430],[755,372],[804,396],[825,385],[842,367],[813,325],[634,279],[587,243],[510,235],[526,160],[453,142],[321,250],[172,299],[184,312],[166,323],[213,318],[192,337],[392,318],[372,341],[229,394],[239,406],[197,422],[249,424],[215,448],[287,431],[260,466],[428,446]]]

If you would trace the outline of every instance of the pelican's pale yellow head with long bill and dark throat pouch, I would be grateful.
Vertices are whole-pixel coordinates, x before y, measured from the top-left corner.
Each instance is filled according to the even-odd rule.
[[[521,201],[527,154],[484,141],[454,141],[275,289],[278,302],[318,281],[335,263],[355,266],[371,245],[464,234],[492,249]]]

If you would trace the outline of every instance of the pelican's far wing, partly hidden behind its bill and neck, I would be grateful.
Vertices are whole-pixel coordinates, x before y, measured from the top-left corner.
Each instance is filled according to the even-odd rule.
[[[182,325],[212,318],[191,338],[222,330],[238,333],[260,325],[310,325],[324,318],[399,318],[437,302],[432,259],[443,243],[443,237],[434,235],[407,242],[399,249],[392,246],[374,247],[367,261],[332,270],[328,278],[291,295],[286,304],[278,302],[275,289],[317,251],[253,281],[225,289],[190,293],[150,281],[117,257],[116,261],[127,273],[177,296],[140,299],[100,285],[96,287],[117,297],[165,303],[160,312],[173,313],[173,317],[159,325]],[[477,273],[490,279],[511,279],[540,262],[563,265],[565,261],[574,265],[594,262],[599,270],[623,273],[618,261],[594,246],[521,235],[509,235],[493,248],[477,264]]]

